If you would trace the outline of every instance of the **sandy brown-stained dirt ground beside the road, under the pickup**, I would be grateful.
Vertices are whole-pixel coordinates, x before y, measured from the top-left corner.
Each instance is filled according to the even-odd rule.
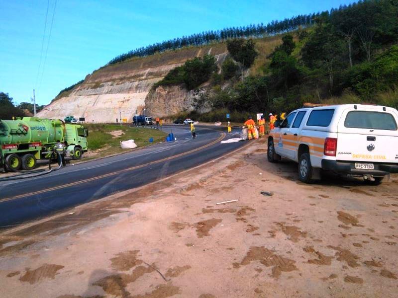
[[[2,233],[0,297],[397,297],[398,176],[306,185],[265,148]]]

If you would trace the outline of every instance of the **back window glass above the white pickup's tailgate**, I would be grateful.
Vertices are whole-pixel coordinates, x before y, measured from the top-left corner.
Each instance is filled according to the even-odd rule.
[[[348,128],[397,130],[397,122],[393,115],[370,111],[348,112],[345,117],[344,126]]]

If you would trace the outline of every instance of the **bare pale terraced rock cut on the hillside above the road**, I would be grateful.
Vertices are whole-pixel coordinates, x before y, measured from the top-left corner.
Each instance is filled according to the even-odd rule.
[[[38,116],[64,119],[73,115],[84,117],[88,123],[113,123],[119,119],[119,108],[121,119],[127,118],[128,122],[144,107],[146,114],[154,117],[192,110],[194,91],[182,86],[158,87],[151,91],[151,87],[173,68],[205,54],[214,55],[219,64],[227,55],[226,46],[221,43],[186,48],[105,66],[88,75],[69,94],[61,94]]]

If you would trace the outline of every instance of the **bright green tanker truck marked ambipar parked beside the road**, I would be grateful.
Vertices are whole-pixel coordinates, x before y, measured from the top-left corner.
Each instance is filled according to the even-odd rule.
[[[88,133],[82,125],[55,119],[0,120],[0,168],[34,169],[37,159],[51,158],[57,141],[66,143],[66,156],[80,159],[87,151]]]

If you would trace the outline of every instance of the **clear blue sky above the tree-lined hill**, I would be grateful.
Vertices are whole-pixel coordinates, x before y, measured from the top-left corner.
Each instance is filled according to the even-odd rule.
[[[205,30],[266,24],[350,2],[50,0],[43,43],[48,0],[0,0],[0,91],[19,103],[29,101],[35,88],[36,102],[48,104],[61,89],[131,49]]]

